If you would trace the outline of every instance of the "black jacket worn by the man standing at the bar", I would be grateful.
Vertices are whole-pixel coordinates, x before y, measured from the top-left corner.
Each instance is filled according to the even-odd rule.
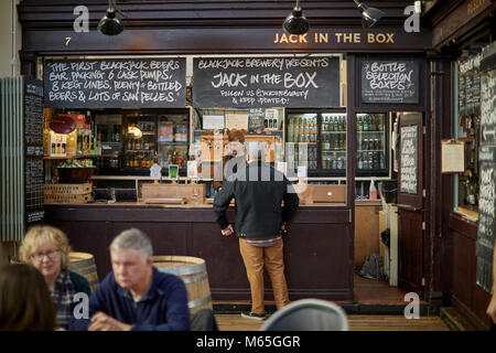
[[[279,234],[298,208],[299,197],[291,182],[269,164],[249,163],[224,183],[214,200],[214,212],[220,228],[229,225],[226,210],[236,200],[236,235],[268,238]],[[284,201],[284,206],[281,206]]]

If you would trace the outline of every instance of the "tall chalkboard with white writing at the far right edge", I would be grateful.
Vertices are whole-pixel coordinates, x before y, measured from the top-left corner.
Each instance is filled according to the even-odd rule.
[[[496,43],[484,49],[481,67],[479,191],[476,282],[490,292],[496,238]]]

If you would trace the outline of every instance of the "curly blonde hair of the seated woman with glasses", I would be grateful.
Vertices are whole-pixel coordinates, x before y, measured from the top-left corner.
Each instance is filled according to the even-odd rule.
[[[50,225],[35,225],[31,227],[22,240],[19,249],[21,261],[31,264],[31,255],[34,254],[41,243],[51,240],[61,250],[62,268],[67,267],[71,246],[64,232]]]

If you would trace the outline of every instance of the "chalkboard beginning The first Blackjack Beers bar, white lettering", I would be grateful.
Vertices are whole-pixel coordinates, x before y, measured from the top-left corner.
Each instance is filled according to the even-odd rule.
[[[47,60],[44,104],[53,108],[184,107],[185,58]]]

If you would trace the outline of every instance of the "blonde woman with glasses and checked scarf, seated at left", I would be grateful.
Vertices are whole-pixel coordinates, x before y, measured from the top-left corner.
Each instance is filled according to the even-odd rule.
[[[90,295],[86,278],[67,269],[71,247],[65,234],[48,225],[30,228],[20,248],[21,260],[40,270],[57,308],[56,324],[67,329],[73,315],[74,295]]]

